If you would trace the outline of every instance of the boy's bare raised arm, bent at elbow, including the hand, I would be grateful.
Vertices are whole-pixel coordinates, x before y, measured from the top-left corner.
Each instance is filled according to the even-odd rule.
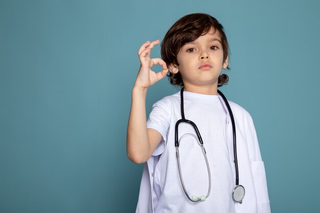
[[[146,123],[146,96],[147,89],[155,82],[163,79],[168,68],[160,58],[150,59],[150,52],[159,40],[145,42],[138,51],[141,66],[132,89],[131,110],[127,128],[127,156],[135,163],[146,162],[156,146],[160,143],[162,135],[154,130],[147,129]],[[155,73],[151,67],[155,64],[163,66],[163,70]]]

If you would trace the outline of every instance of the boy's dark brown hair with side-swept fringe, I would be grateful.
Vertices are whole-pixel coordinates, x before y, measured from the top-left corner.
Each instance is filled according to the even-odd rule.
[[[188,42],[194,41],[201,35],[207,34],[211,27],[218,30],[221,37],[222,49],[223,49],[223,62],[225,61],[228,53],[230,52],[227,38],[223,31],[223,26],[217,19],[209,14],[205,13],[193,13],[185,15],[178,19],[174,25],[168,30],[163,41],[161,42],[161,57],[169,64],[178,64],[177,55],[180,48]],[[230,69],[230,67],[226,67]],[[170,83],[175,86],[184,86],[180,72],[177,74],[168,73]],[[222,74],[218,79],[218,87],[226,84],[229,77],[226,74]]]

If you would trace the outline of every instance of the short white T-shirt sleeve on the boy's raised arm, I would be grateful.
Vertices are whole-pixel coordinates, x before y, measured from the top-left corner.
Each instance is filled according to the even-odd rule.
[[[170,116],[171,107],[164,100],[157,101],[152,105],[152,110],[147,121],[147,128],[155,129],[162,135],[162,140],[152,153],[154,156],[162,154],[166,149]]]

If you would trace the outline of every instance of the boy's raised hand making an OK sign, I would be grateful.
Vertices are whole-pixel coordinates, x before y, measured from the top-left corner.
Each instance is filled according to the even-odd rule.
[[[155,41],[147,41],[140,47],[138,51],[139,59],[140,59],[140,69],[138,76],[136,77],[134,87],[139,87],[141,89],[147,89],[151,85],[153,85],[155,82],[163,79],[167,76],[168,68],[166,65],[166,62],[162,60],[161,58],[150,58],[151,55],[151,49],[154,47],[154,45],[158,44],[160,42],[159,39]],[[159,64],[163,67],[163,70],[161,72],[155,73],[151,70],[151,67]]]

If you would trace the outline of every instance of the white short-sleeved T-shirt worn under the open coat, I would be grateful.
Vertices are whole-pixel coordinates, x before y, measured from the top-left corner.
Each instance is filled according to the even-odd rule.
[[[168,113],[168,99],[171,113]],[[232,164],[225,139],[226,111],[218,95],[184,91],[184,109],[187,120],[194,122],[207,151],[211,172],[211,193],[204,202],[191,202],[184,193],[179,178],[176,148],[175,122],[181,119],[180,92],[162,99],[153,105],[147,127],[163,131],[165,150],[155,150],[162,155],[154,171],[154,212],[217,212],[234,213],[232,191],[235,187]],[[167,120],[164,122],[164,120]],[[168,124],[171,126],[168,126]],[[161,126],[161,127],[159,127]],[[189,123],[179,124],[179,156],[182,178],[191,197],[207,195],[209,190],[208,168],[197,141],[197,134]],[[166,142],[165,142],[166,141]]]

